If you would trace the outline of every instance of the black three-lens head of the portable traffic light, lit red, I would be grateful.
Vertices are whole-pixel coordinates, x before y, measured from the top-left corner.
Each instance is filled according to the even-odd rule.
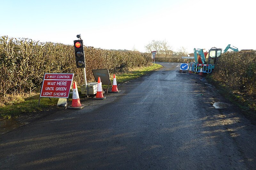
[[[83,40],[74,40],[76,68],[85,68]]]

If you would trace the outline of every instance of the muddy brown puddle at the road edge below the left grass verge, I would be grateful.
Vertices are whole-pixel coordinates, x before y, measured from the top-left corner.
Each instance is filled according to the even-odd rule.
[[[25,124],[28,124],[28,123],[27,122],[19,123],[18,121],[13,119],[0,120],[0,134],[16,129]]]

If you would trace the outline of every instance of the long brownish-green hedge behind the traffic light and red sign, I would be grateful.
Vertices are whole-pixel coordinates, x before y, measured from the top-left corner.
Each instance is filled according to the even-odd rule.
[[[151,54],[108,51],[85,47],[87,81],[94,81],[92,69],[108,68],[110,73],[148,66]],[[0,38],[0,96],[12,92],[39,91],[44,73],[75,73],[83,84],[83,71],[76,68],[74,46],[39,42],[25,38]]]

